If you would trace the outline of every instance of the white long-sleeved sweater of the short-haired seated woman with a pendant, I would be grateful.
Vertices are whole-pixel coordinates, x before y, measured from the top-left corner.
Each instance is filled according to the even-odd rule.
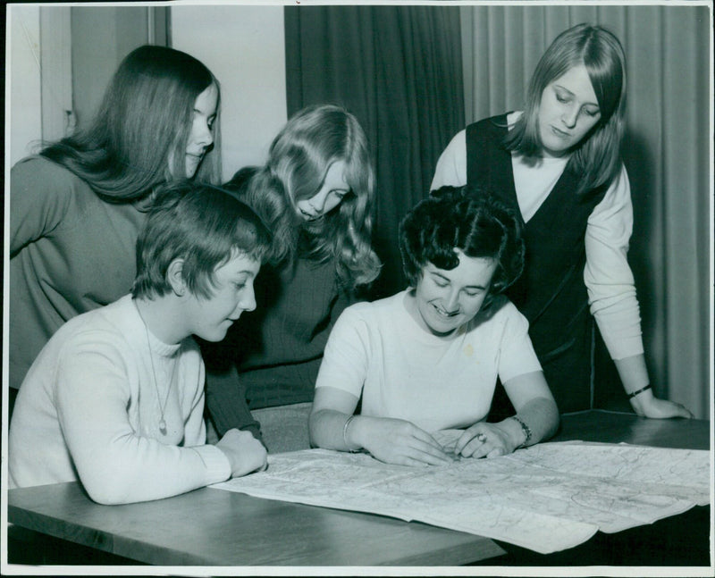
[[[122,504],[223,482],[229,460],[205,445],[204,379],[194,339],[157,339],[129,295],[71,319],[22,382],[10,486],[79,479],[95,501]]]

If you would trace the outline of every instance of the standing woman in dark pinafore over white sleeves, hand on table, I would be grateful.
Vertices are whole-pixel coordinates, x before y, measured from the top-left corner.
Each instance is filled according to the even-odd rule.
[[[563,412],[591,405],[591,313],[635,413],[691,416],[652,394],[633,274],[633,209],[620,159],[626,70],[598,26],[562,32],[543,54],[523,112],[475,122],[452,139],[433,188],[496,191],[525,222],[526,267],[509,298]]]

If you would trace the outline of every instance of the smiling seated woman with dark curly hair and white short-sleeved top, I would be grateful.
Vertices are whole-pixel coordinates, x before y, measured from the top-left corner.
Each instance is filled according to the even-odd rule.
[[[400,249],[409,289],[350,306],[332,330],[315,384],[313,444],[437,465],[452,459],[438,431],[464,430],[453,448],[463,457],[551,436],[559,410],[524,315],[501,295],[524,263],[517,218],[444,187],[405,217]],[[517,414],[486,423],[498,377]]]

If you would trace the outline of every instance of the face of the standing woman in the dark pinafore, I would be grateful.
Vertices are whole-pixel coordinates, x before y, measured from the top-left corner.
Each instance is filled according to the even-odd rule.
[[[543,89],[539,105],[539,138],[545,156],[559,157],[576,147],[601,119],[601,109],[583,64]]]

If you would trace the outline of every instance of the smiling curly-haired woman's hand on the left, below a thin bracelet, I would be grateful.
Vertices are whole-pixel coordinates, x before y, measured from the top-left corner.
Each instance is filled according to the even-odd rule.
[[[398,465],[445,465],[454,459],[414,423],[361,415],[351,424],[352,438],[375,458]]]

